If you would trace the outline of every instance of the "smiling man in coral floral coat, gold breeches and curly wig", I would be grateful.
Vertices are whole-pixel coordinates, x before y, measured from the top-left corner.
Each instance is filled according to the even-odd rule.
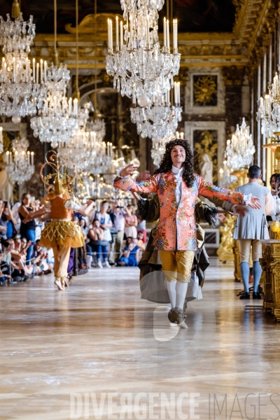
[[[159,169],[150,179],[137,183],[130,174],[133,165],[121,168],[114,187],[139,193],[158,193],[160,221],[154,246],[160,250],[162,269],[165,271],[172,309],[169,320],[182,328],[184,322],[183,300],[186,296],[190,270],[193,265],[197,236],[195,227],[195,202],[198,195],[218,197],[232,204],[259,208],[258,199],[235,191],[218,188],[193,173],[193,153],[188,141],[169,141]]]

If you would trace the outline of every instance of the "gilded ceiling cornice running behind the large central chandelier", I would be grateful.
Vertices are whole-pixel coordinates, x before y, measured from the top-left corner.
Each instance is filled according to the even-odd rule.
[[[232,0],[236,6],[236,21],[232,33],[181,33],[179,34],[179,52],[181,67],[200,66],[247,66],[247,73],[252,74],[258,65],[270,34],[279,17],[278,0]],[[122,19],[121,15],[118,15]],[[105,69],[107,53],[107,20],[115,20],[113,13],[87,15],[78,25],[80,69]],[[69,34],[57,36],[59,61],[69,68],[76,65],[76,28],[65,26]],[[97,40],[94,41],[94,31]],[[113,30],[115,25],[113,25]],[[163,35],[160,34],[160,41]],[[38,34],[31,49],[31,57],[52,59],[53,35]],[[95,45],[97,43],[97,46]],[[96,51],[96,56],[94,56]]]

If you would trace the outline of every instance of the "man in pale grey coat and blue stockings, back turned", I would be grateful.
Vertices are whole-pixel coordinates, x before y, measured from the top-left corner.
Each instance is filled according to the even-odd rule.
[[[239,193],[252,194],[259,198],[261,209],[251,209],[238,207],[240,216],[237,218],[233,238],[239,241],[240,253],[240,272],[244,284],[244,292],[240,299],[250,299],[249,294],[249,258],[252,246],[253,256],[253,299],[261,299],[258,293],[258,283],[262,274],[260,258],[262,258],[262,243],[260,239],[269,239],[266,216],[274,210],[274,201],[269,189],[260,186],[259,179],[262,178],[260,168],[252,165],[248,169],[248,183],[236,188]],[[226,205],[226,207],[228,204]],[[230,206],[232,211],[236,211],[235,206]]]

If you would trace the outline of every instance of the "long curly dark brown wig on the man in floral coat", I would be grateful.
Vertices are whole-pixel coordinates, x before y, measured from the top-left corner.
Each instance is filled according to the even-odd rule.
[[[165,154],[163,155],[160,167],[156,169],[155,174],[166,173],[172,170],[171,151],[174,146],[183,146],[186,151],[186,160],[183,164],[183,180],[186,182],[188,188],[193,186],[195,175],[193,174],[193,153],[187,140],[174,139],[165,144]]]

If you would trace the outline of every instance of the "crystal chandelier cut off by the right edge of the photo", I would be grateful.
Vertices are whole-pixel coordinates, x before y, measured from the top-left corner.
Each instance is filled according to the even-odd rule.
[[[262,122],[261,132],[269,137],[276,137],[280,134],[280,97],[279,79],[275,73],[272,85],[268,86],[268,94],[265,100],[260,98],[260,106],[257,113],[257,121]]]

